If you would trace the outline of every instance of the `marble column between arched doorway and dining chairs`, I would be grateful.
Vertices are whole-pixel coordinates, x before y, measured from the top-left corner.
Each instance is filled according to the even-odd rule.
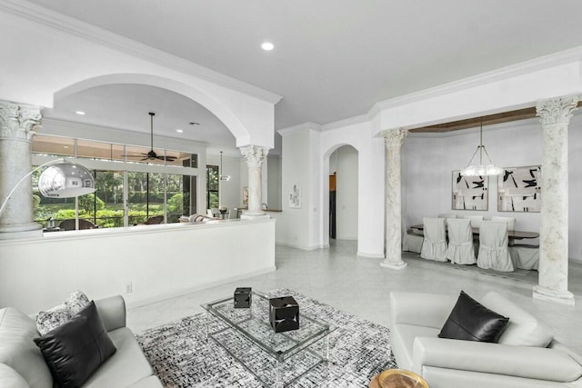
[[[402,269],[402,201],[400,148],[408,131],[397,128],[381,132],[386,142],[386,259],[380,266]]]

